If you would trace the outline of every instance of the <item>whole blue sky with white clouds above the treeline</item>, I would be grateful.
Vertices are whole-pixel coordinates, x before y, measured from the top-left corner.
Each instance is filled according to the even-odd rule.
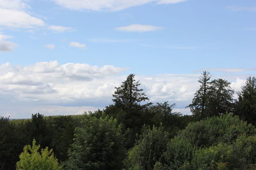
[[[103,109],[132,73],[191,114],[202,71],[255,76],[255,18],[255,0],[0,0],[0,116]]]

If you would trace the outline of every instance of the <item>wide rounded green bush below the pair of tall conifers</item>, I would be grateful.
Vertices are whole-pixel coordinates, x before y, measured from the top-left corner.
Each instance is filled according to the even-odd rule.
[[[188,124],[188,127],[179,132],[178,136],[188,139],[189,143],[193,143],[196,147],[204,147],[218,145],[218,143],[234,143],[242,134],[255,135],[256,129],[238,117],[222,115]]]

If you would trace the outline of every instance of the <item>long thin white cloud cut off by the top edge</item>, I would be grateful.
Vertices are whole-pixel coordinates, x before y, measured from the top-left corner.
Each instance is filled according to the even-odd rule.
[[[132,6],[140,6],[148,3],[173,4],[184,0],[53,0],[56,4],[70,10],[93,10],[93,11],[118,11]]]

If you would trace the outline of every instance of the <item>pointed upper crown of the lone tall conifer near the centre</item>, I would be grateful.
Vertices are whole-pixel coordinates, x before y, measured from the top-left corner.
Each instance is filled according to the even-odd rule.
[[[140,81],[136,81],[134,76],[135,74],[129,74],[120,87],[115,87],[116,91],[113,94],[113,102],[116,106],[124,108],[127,106],[138,106],[140,102],[148,100],[148,97],[142,92],[143,89],[138,88],[141,85]]]

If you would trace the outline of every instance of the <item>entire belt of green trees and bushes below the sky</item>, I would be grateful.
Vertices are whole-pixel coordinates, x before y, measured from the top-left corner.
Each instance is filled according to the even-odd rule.
[[[75,116],[0,118],[0,169],[256,169],[256,78],[238,98],[204,71],[187,107],[149,103],[134,74],[113,104]]]

